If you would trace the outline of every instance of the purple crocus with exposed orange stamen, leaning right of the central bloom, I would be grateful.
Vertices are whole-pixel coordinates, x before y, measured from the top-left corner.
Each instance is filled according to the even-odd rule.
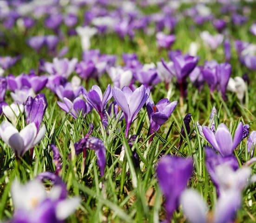
[[[175,109],[177,101],[170,102],[168,99],[161,99],[156,105],[151,99],[146,103],[148,117],[150,119],[150,134],[158,131]],[[151,140],[153,136],[151,136]]]

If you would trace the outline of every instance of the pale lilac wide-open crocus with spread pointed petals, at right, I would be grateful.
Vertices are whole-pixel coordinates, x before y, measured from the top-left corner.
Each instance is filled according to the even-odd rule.
[[[234,138],[225,124],[219,124],[215,134],[207,127],[203,126],[203,134],[211,146],[216,149],[223,157],[233,154],[234,149],[242,141],[243,124],[237,125]]]

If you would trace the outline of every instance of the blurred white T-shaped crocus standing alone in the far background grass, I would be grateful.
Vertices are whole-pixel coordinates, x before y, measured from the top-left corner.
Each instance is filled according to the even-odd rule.
[[[90,38],[97,33],[97,29],[89,26],[79,26],[76,28],[76,31],[81,38],[82,49],[84,51],[89,50],[91,46]]]

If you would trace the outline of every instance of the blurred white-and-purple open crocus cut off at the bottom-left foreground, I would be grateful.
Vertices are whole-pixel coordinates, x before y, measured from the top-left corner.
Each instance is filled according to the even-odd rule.
[[[59,185],[46,193],[39,180],[29,181],[26,185],[14,180],[12,198],[15,213],[10,223],[63,223],[80,203],[79,197],[62,198]]]

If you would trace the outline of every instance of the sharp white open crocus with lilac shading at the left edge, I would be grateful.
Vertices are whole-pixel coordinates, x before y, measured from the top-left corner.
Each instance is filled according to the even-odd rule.
[[[20,132],[9,122],[3,121],[0,124],[0,137],[2,140],[13,149],[16,156],[23,156],[28,149],[40,142],[45,136],[46,126],[37,133],[37,128],[34,123],[28,124]]]

